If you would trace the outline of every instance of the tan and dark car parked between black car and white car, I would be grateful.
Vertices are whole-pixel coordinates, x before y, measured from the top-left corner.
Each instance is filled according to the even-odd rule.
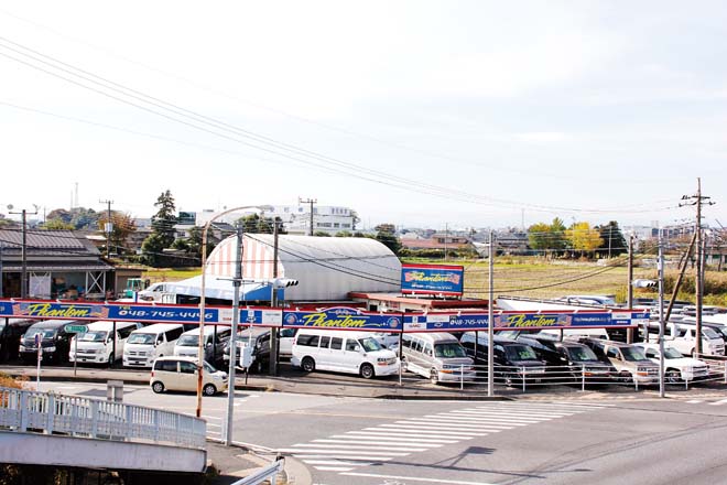
[[[585,338],[582,343],[605,363],[612,365],[622,382],[649,385],[659,381],[659,366],[647,358],[641,347],[600,338]]]

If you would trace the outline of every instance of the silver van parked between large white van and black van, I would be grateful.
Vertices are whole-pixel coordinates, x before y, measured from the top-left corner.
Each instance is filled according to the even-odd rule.
[[[432,384],[475,380],[474,362],[454,335],[405,333],[402,344],[406,370],[427,377]]]

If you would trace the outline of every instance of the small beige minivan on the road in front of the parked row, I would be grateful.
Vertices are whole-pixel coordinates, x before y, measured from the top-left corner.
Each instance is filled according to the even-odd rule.
[[[203,362],[202,392],[214,396],[227,390],[227,373],[215,369]],[[152,365],[149,385],[156,394],[165,390],[196,391],[198,384],[198,362],[194,357],[159,357]]]

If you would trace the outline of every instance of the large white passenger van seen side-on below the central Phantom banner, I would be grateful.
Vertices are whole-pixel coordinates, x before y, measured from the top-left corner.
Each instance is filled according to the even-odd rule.
[[[399,357],[368,332],[301,328],[291,363],[306,373],[315,369],[358,374],[366,379],[399,373]]]

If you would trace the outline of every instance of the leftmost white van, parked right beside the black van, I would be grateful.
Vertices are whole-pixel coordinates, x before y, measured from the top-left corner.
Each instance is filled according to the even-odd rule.
[[[138,322],[116,322],[116,345],[113,343],[113,322],[93,322],[88,332],[76,334],[70,341],[69,362],[111,365],[123,356],[123,347],[129,335],[141,328]],[[78,340],[76,345],[76,340]],[[78,354],[76,354],[76,352]]]

